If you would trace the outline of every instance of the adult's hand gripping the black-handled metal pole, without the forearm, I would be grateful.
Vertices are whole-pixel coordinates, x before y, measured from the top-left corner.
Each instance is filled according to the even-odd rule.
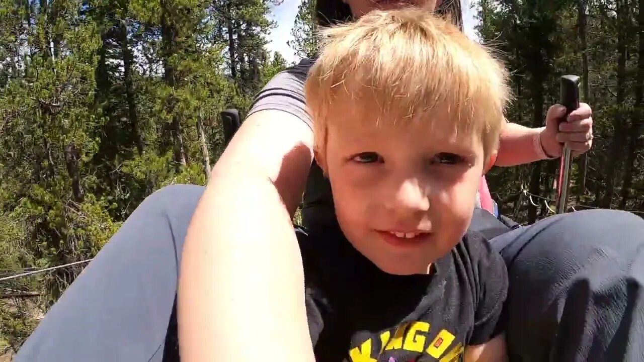
[[[579,108],[568,115],[567,122],[561,122],[565,107],[554,104],[545,116],[545,128],[540,135],[541,146],[548,157],[560,157],[567,142],[573,156],[581,155],[592,146],[592,110],[588,104],[580,103]]]

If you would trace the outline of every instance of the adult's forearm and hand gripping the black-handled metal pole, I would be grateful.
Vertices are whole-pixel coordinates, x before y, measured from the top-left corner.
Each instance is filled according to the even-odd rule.
[[[588,104],[571,112],[568,122],[559,124],[565,108],[555,104],[545,117],[545,127],[529,128],[508,122],[504,127],[498,149],[497,166],[529,164],[562,155],[564,142],[569,142],[574,155],[592,146],[592,110]]]

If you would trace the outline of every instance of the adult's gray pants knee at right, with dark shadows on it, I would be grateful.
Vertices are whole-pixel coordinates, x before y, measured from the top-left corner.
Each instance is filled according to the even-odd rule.
[[[511,361],[644,361],[644,220],[579,211],[492,243],[508,267]]]

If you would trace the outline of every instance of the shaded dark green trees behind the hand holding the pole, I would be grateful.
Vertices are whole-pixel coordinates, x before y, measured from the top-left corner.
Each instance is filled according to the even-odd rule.
[[[580,94],[592,106],[595,138],[587,158],[579,157],[572,169],[570,203],[576,209],[644,211],[644,32],[638,12],[638,3],[629,2],[480,2],[478,33],[512,71],[511,122],[542,126],[545,111],[558,102],[560,76],[582,77]],[[557,170],[558,160],[497,168],[488,181],[505,214],[531,223],[550,213],[544,198],[552,204]],[[522,191],[536,196],[531,201]]]

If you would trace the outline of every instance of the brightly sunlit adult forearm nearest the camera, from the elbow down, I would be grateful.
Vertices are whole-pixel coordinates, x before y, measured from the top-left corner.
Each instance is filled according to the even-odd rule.
[[[314,361],[304,295],[298,242],[272,181],[215,171],[182,257],[182,361]]]

